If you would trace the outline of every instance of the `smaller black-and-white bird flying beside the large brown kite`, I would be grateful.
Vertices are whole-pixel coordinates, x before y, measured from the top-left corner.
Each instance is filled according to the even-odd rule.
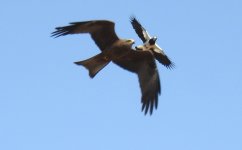
[[[151,37],[135,17],[131,16],[130,22],[139,38],[143,41],[143,45],[135,47],[136,50],[151,50],[156,60],[169,69],[173,68],[174,63],[166,56],[164,50],[156,44],[157,37]]]

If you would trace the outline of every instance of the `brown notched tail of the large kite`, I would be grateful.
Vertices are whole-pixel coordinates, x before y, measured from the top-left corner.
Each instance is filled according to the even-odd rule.
[[[94,78],[94,76],[102,70],[109,62],[111,61],[110,58],[105,56],[103,53],[100,53],[96,56],[93,56],[89,59],[74,62],[77,65],[82,65],[89,71],[89,76]]]

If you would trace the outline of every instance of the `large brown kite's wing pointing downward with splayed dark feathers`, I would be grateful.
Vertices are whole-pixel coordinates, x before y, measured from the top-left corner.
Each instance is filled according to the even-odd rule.
[[[158,95],[161,91],[160,79],[154,56],[150,51],[131,50],[125,57],[114,61],[120,67],[137,73],[142,93],[142,111],[152,114],[158,107]]]

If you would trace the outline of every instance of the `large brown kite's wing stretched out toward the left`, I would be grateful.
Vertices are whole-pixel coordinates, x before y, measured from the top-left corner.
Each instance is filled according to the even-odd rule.
[[[97,46],[103,51],[119,40],[114,29],[115,24],[108,20],[73,22],[69,26],[57,27],[52,36],[59,37],[67,34],[90,33]]]

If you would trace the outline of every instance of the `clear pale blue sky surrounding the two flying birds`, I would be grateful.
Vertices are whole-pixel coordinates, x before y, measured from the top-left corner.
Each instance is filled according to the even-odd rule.
[[[2,0],[1,150],[241,150],[242,1]],[[135,15],[175,62],[158,64],[159,107],[141,113],[136,75],[109,64],[95,79],[73,64],[99,49],[56,26],[109,19],[141,40]]]

